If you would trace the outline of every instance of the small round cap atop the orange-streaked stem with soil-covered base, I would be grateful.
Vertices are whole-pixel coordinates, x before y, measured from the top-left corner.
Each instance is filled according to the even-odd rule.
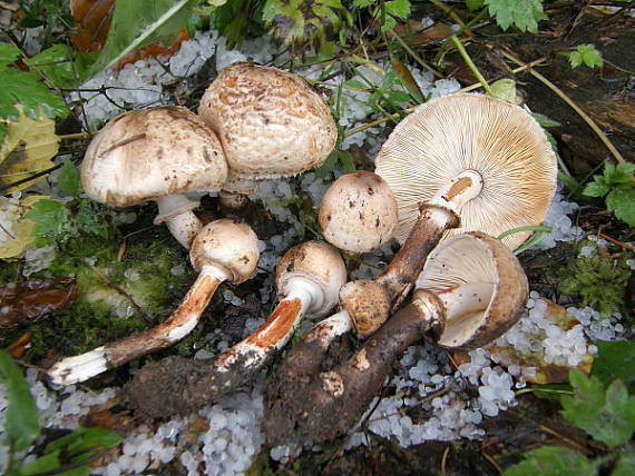
[[[284,254],[275,268],[275,287],[286,296],[291,280],[301,278],[320,292],[312,296],[306,314],[325,316],[336,304],[340,288],[346,282],[346,267],[335,248],[324,241],[305,241]]]

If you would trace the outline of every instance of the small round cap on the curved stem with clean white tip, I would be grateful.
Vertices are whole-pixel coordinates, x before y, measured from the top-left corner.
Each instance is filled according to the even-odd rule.
[[[228,280],[246,281],[258,262],[258,238],[248,225],[227,218],[212,221],[192,241],[189,259],[197,271],[204,266],[222,268]]]

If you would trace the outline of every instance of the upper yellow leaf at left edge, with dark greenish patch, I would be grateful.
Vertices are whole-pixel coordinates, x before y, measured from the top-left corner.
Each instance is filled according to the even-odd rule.
[[[0,148],[0,189],[3,194],[21,190],[46,177],[42,175],[11,187],[11,184],[51,168],[50,159],[57,155],[59,145],[55,122],[43,113],[39,120],[33,120],[21,112],[18,122],[6,123],[7,136]]]

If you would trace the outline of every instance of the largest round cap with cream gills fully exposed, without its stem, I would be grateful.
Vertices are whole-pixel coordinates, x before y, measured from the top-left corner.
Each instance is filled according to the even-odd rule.
[[[480,95],[450,95],[417,108],[394,128],[375,165],[399,205],[400,242],[419,206],[463,170],[479,173],[482,189],[448,235],[498,236],[539,225],[556,190],[556,156],[540,126],[522,108]],[[529,235],[514,234],[504,242],[515,249]]]

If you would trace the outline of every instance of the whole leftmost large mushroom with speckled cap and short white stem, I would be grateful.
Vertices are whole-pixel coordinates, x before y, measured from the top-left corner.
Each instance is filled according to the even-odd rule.
[[[154,200],[155,224],[166,222],[188,248],[201,229],[185,192],[218,191],[227,163],[218,138],[194,112],[162,107],[124,112],[95,136],[81,162],[89,198],[116,207]]]

